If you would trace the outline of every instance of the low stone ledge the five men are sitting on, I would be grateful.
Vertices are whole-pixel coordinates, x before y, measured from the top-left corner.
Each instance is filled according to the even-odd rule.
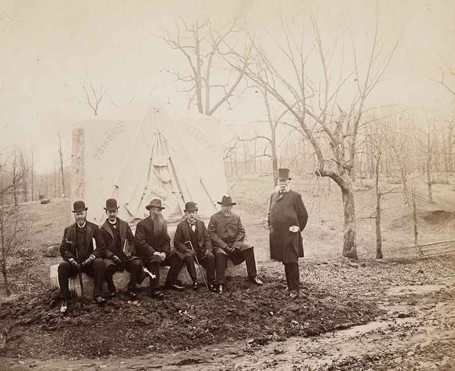
[[[59,277],[58,277],[58,264],[51,265],[51,273],[50,273],[50,283],[52,287],[59,288]],[[205,269],[201,267],[202,272],[204,273],[204,278],[207,278]],[[160,267],[160,286],[164,285],[164,282],[167,277],[167,271],[169,267]],[[201,287],[204,286],[204,280],[201,277],[201,273],[199,268],[196,265],[196,273],[198,277],[198,282]],[[235,266],[231,260],[228,260],[228,267],[226,268],[225,273],[226,278],[235,277],[235,276],[247,276],[246,266],[245,263],[239,264]],[[190,275],[187,272],[187,267],[184,266],[180,269],[178,273],[178,278],[183,284],[191,285],[193,284],[193,280],[191,279]],[[129,273],[126,271],[123,272],[116,272],[114,274],[114,284],[119,291],[126,291],[126,286],[129,281]],[[140,287],[148,287],[149,286],[149,278],[145,278],[142,282]],[[93,296],[93,277],[88,276],[86,273],[82,273],[82,283],[84,285],[84,294],[87,298],[92,298]],[[69,280],[69,288],[70,291],[75,296],[80,296],[80,285],[79,285],[79,277],[76,275]],[[107,294],[107,284],[106,282],[103,285],[103,291]]]

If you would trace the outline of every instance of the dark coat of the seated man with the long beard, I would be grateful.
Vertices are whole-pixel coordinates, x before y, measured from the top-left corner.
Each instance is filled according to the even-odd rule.
[[[153,219],[147,217],[141,220],[136,225],[136,232],[134,234],[134,245],[136,253],[142,259],[144,264],[151,262],[161,262],[160,257],[153,255],[153,253],[166,253],[166,259],[172,257],[175,254],[183,259],[184,254],[172,250],[170,248],[170,237],[167,231],[161,236],[155,236],[153,231]]]

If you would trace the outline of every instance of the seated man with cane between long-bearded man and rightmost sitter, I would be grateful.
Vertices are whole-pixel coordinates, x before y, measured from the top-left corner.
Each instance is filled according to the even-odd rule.
[[[196,219],[198,208],[194,202],[185,204],[186,220],[177,225],[174,235],[174,248],[185,254],[185,264],[193,280],[193,289],[198,290],[194,260],[207,270],[207,284],[210,291],[215,290],[215,258],[212,254],[212,242],[202,220]]]

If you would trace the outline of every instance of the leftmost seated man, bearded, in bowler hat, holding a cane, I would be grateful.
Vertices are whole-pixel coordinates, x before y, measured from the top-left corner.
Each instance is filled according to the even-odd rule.
[[[79,267],[82,272],[94,276],[95,302],[99,305],[106,302],[101,296],[105,273],[103,261],[105,246],[100,228],[87,221],[87,208],[84,201],[74,202],[73,214],[76,222],[65,228],[60,244],[60,254],[63,258],[58,268],[60,295],[63,299],[61,312],[66,311],[70,299],[68,280],[77,275]],[[96,250],[94,250],[92,238],[95,238]]]

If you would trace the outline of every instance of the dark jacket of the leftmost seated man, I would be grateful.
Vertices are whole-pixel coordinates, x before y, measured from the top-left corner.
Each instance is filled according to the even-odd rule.
[[[78,250],[79,254],[79,263],[82,263],[90,255],[94,255],[95,258],[104,258],[105,257],[105,245],[104,239],[101,235],[100,228],[95,223],[85,222],[85,245]],[[73,223],[70,226],[65,228],[63,232],[62,243],[60,244],[60,255],[64,260],[70,260],[73,258],[76,259],[76,231],[77,223]],[[95,238],[97,243],[97,249],[94,250],[92,238]],[[68,243],[71,241],[74,243]]]

